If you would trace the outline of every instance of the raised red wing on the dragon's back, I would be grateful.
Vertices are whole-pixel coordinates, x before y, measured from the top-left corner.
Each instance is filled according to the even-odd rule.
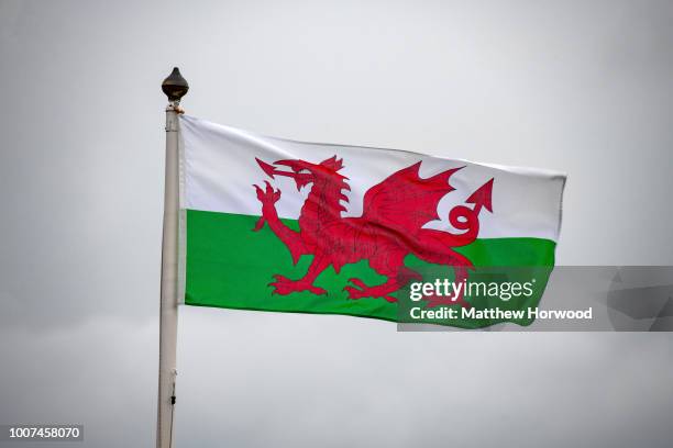
[[[419,161],[400,169],[367,190],[362,217],[396,231],[413,233],[437,220],[440,199],[454,190],[449,178],[463,167],[421,179],[418,173],[420,166]]]

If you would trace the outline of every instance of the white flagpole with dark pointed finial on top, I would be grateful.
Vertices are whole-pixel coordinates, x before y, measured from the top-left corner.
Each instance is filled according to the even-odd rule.
[[[156,418],[156,448],[173,448],[175,412],[177,303],[178,303],[178,114],[180,99],[189,86],[177,67],[162,83],[166,107],[166,173],[164,231],[162,238],[162,284],[159,307],[159,371]]]

